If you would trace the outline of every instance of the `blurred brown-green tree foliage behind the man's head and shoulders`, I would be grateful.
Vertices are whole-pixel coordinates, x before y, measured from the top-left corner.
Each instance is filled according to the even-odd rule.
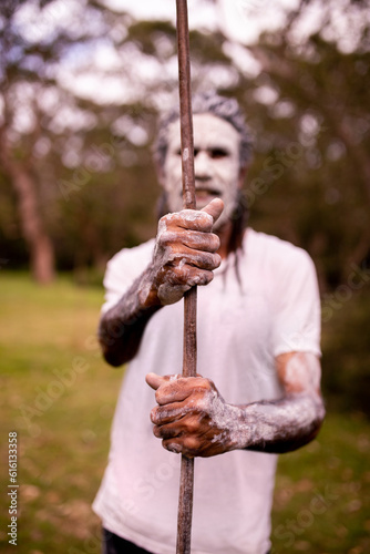
[[[251,225],[306,248],[323,293],[369,253],[369,22],[367,2],[348,0],[346,50],[331,29],[338,7],[326,2],[320,30],[302,38],[296,27],[311,4],[301,2],[284,28],[249,47],[193,30],[191,52],[194,92],[218,89],[247,113]],[[58,0],[7,6],[2,151],[29,176],[32,217],[51,239],[58,268],[102,268],[155,232],[160,188],[150,145],[158,111],[177,99],[175,29],[97,0],[72,2],[71,19]],[[92,86],[79,89],[89,78]],[[120,85],[121,98],[110,99]],[[3,162],[0,248],[9,267],[24,267],[30,216],[16,177]]]

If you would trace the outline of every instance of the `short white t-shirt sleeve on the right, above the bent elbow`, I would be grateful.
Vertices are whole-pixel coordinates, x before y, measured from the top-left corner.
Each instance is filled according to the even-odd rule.
[[[321,356],[320,295],[314,261],[299,248],[275,273],[274,356],[300,351]]]

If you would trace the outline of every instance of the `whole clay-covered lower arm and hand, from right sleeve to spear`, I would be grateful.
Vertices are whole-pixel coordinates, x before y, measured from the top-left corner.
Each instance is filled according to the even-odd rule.
[[[325,417],[319,360],[290,352],[276,362],[284,397],[246,406],[225,402],[209,379],[150,373],[160,404],[151,414],[154,434],[167,450],[189,458],[245,449],[288,452],[308,443]]]

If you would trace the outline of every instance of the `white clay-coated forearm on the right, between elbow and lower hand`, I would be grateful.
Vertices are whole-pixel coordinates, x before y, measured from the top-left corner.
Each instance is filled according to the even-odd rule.
[[[277,401],[229,408],[235,417],[230,425],[232,444],[236,449],[270,453],[289,452],[310,442],[325,417],[319,394],[297,393]]]

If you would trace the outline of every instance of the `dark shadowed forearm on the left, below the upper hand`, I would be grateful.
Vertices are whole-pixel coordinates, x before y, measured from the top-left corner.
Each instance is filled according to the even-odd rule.
[[[151,290],[151,270],[147,269],[101,318],[99,339],[111,366],[121,366],[136,355],[147,321],[161,307]]]

